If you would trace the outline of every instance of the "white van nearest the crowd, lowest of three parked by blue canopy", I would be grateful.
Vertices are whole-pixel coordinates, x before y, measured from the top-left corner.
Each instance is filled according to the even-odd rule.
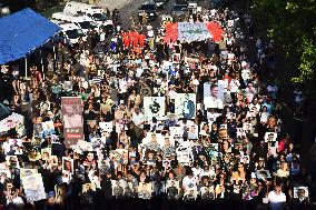
[[[80,37],[83,41],[87,40],[86,34],[75,23],[61,23],[59,27],[61,28],[61,32],[52,39],[53,41],[72,46],[78,43]]]

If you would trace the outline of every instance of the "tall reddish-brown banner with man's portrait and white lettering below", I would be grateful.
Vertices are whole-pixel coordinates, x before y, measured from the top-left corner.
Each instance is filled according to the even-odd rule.
[[[62,97],[65,146],[71,148],[83,139],[82,101],[80,97]]]

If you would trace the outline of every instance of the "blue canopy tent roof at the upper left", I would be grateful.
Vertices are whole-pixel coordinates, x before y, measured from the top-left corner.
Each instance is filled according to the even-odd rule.
[[[60,28],[27,8],[0,19],[0,64],[24,57],[46,43]]]

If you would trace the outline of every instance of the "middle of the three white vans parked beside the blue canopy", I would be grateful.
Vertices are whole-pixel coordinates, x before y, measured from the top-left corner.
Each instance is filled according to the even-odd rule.
[[[52,14],[52,18],[55,20],[75,23],[85,34],[88,33],[89,29],[95,29],[97,27],[90,18],[69,12],[56,12]]]

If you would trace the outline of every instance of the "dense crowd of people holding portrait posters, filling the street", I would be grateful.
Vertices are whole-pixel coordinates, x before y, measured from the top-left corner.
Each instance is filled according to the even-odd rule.
[[[178,21],[169,16],[159,29],[132,22],[53,43],[30,80],[2,66],[0,102],[24,117],[24,133],[2,139],[2,207],[313,209],[315,180],[280,118],[274,41],[248,44],[243,12],[181,18],[211,20],[220,42],[164,39]],[[79,102],[63,104],[71,97]]]

